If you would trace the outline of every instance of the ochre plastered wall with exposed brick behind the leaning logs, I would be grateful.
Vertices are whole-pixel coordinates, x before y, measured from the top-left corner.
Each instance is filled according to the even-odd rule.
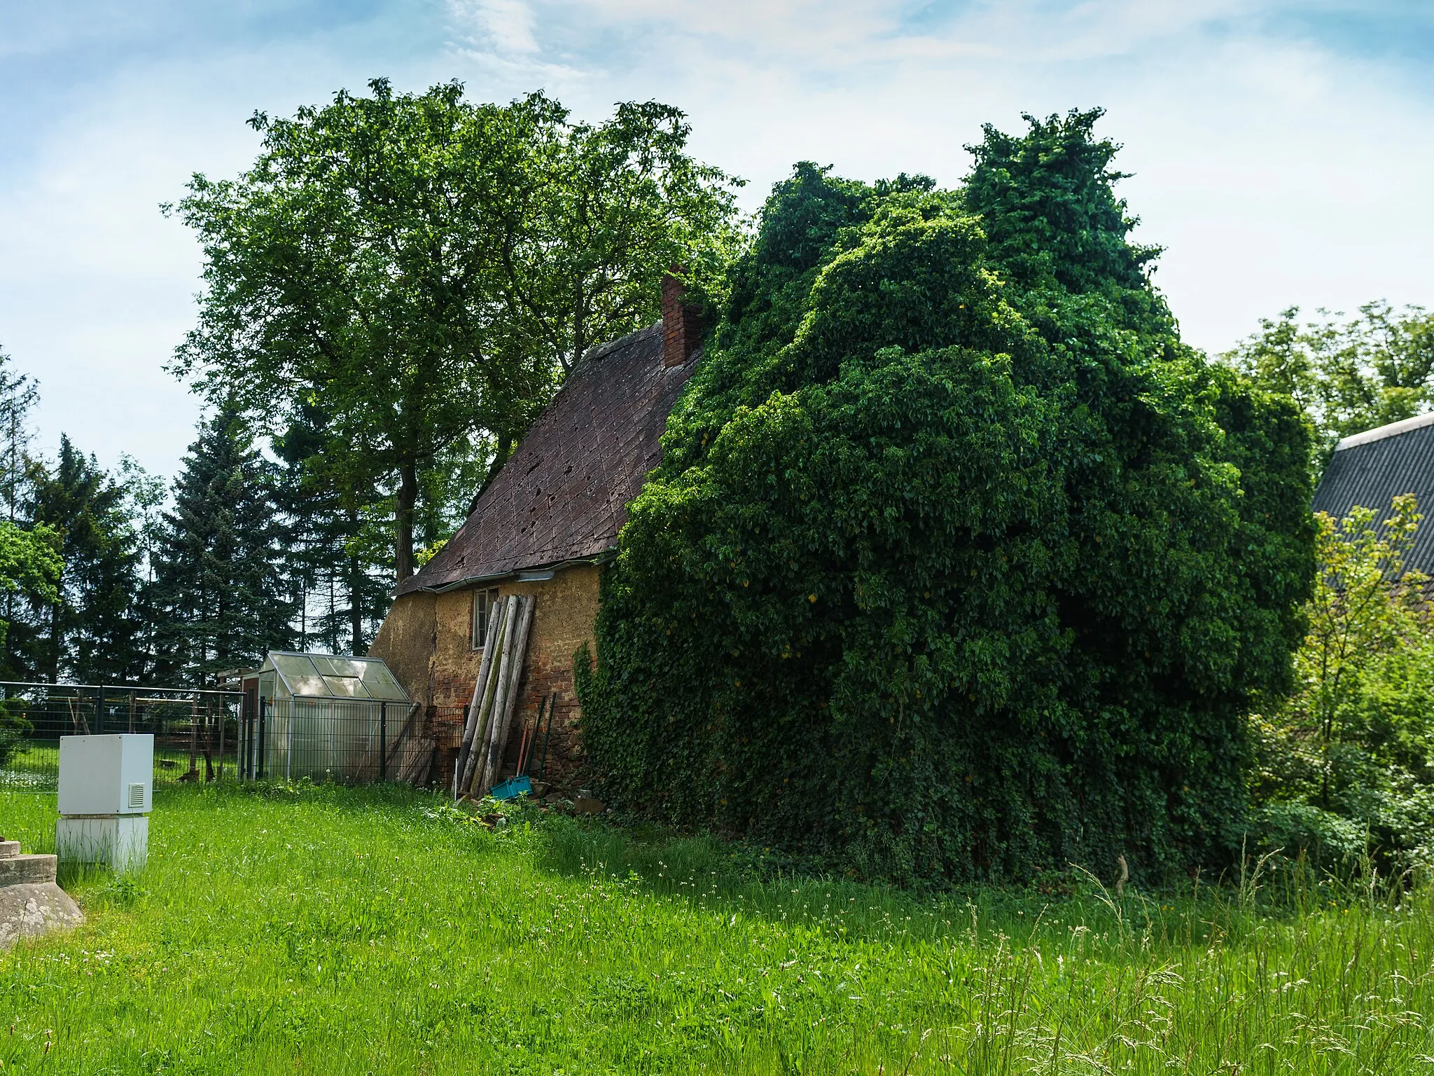
[[[578,699],[572,684],[572,656],[584,641],[592,646],[598,615],[598,568],[574,565],[542,582],[498,584],[500,597],[525,594],[536,598],[528,636],[528,657],[519,684],[518,709],[509,730],[505,772],[516,768],[522,729],[538,716],[539,703],[556,693],[548,736],[548,779],[569,789],[582,760],[582,745],[574,729]],[[462,736],[462,706],[473,694],[482,651],[470,647],[473,590],[446,594],[406,594],[394,601],[369,653],[381,657],[416,702],[430,709],[429,735],[439,746],[436,780],[453,779]],[[548,729],[546,713],[543,730]],[[543,730],[539,730],[528,772],[542,760]]]

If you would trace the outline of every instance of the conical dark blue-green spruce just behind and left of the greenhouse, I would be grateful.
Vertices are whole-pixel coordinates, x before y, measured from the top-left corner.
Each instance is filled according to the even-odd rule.
[[[199,425],[156,565],[162,673],[202,683],[293,646],[270,471],[235,407]]]

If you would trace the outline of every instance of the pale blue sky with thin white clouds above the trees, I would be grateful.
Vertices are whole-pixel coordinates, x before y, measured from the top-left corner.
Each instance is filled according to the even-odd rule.
[[[1434,306],[1431,0],[0,0],[0,349],[37,448],[172,476],[201,407],[165,364],[201,255],[161,204],[376,76],[688,113],[754,209],[796,161],[967,174],[981,125],[1103,106],[1187,341],[1289,306]]]

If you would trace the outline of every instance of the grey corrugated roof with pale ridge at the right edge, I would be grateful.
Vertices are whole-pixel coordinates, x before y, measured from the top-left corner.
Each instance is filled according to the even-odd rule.
[[[1425,515],[1405,567],[1434,574],[1434,415],[1341,440],[1319,479],[1314,508],[1338,518],[1361,505],[1384,519],[1400,494],[1414,494]]]

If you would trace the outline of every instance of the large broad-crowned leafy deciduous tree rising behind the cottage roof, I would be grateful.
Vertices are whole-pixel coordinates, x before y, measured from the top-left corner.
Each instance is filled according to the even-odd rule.
[[[176,211],[205,291],[174,369],[271,433],[317,403],[337,485],[391,498],[403,580],[424,468],[479,432],[500,465],[574,356],[655,317],[661,268],[714,261],[693,248],[727,234],[733,201],[675,109],[589,128],[542,95],[369,85],[255,115],[255,165],[191,181]]]

